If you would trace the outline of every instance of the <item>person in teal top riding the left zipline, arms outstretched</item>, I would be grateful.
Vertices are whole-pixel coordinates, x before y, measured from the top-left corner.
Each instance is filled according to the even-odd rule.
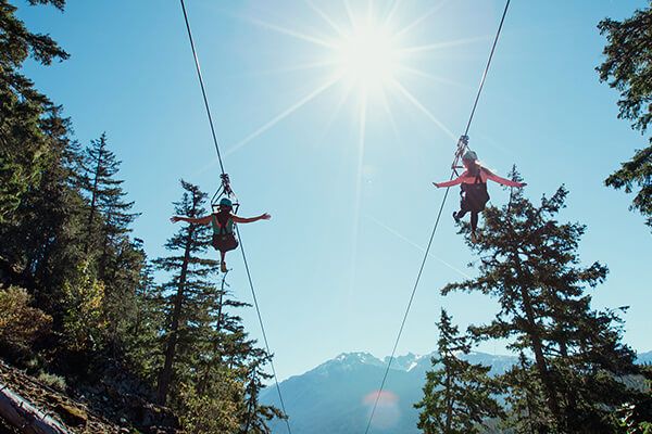
[[[184,216],[173,216],[170,218],[172,222],[187,221],[192,225],[212,225],[213,226],[213,247],[220,251],[220,269],[222,272],[227,272],[226,268],[226,252],[238,248],[238,240],[236,239],[236,224],[251,224],[259,220],[268,220],[272,218],[269,214],[264,213],[256,217],[240,217],[233,213],[234,204],[228,197],[222,197],[217,205],[217,212],[205,217],[191,218]]]

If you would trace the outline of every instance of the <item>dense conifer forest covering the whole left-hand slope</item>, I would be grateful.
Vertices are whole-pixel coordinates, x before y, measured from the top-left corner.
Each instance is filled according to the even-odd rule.
[[[268,433],[266,422],[283,417],[258,400],[269,356],[233,312],[247,305],[224,282],[215,288],[211,228],[179,228],[171,254],[155,261],[171,280],[155,284],[142,241],[131,238],[137,213],[106,136],[82,150],[62,108],[20,74],[28,56],[50,64],[67,54],[15,11],[0,0],[0,282],[10,285],[0,290],[0,344],[25,349],[34,371],[106,379],[120,367],[137,400],[155,385],[170,394],[187,432]],[[205,194],[183,187],[177,213],[203,214]],[[36,341],[50,326],[52,339]],[[66,388],[63,378],[40,380]],[[108,407],[125,405],[109,398]]]

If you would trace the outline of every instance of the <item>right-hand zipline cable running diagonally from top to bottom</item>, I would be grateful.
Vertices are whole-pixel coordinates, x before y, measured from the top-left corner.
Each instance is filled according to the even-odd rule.
[[[480,94],[482,92],[482,88],[485,86],[485,79],[487,78],[487,73],[489,72],[489,66],[491,65],[491,60],[493,59],[493,52],[496,51],[496,44],[498,43],[498,39],[500,37],[503,23],[505,21],[505,16],[507,14],[507,9],[510,8],[510,1],[507,0],[505,3],[505,9],[503,11],[502,17],[500,20],[500,25],[498,26],[498,31],[496,33],[496,38],[493,39],[493,44],[491,47],[491,52],[489,53],[489,60],[487,61],[487,66],[485,67],[485,72],[482,74],[482,78],[480,79],[480,86],[478,87],[478,92],[475,98],[475,102],[473,104],[473,108],[471,111],[471,116],[468,118],[468,123],[466,124],[466,129],[464,130],[464,136],[457,142],[457,151],[455,152],[455,157],[452,164],[452,174],[450,180],[455,176],[455,167],[460,162],[460,157],[463,154],[464,148],[466,148],[466,140],[468,136],[468,130],[471,128],[471,123],[473,122],[473,116],[475,115],[476,107],[478,105],[478,101],[480,99]],[[437,227],[439,226],[439,220],[441,219],[441,214],[443,212],[443,207],[446,205],[446,201],[448,199],[450,191],[450,187],[446,188],[446,193],[443,194],[443,199],[441,201],[441,206],[439,207],[439,212],[437,213],[437,219],[435,220],[435,226],[432,227],[432,232],[430,233],[430,239],[428,240],[428,246],[426,247],[426,252],[424,254],[424,258],[421,263],[421,267],[418,269],[418,273],[416,275],[416,280],[414,282],[414,286],[412,289],[412,294],[410,295],[410,301],[408,302],[408,307],[405,308],[405,314],[403,315],[403,320],[401,321],[401,327],[399,328],[399,333],[394,341],[393,348],[391,350],[391,356],[389,357],[389,361],[387,363],[387,368],[385,369],[385,374],[383,375],[383,381],[380,382],[380,388],[376,393],[376,399],[374,401],[374,407],[372,408],[372,412],[369,414],[369,419],[367,421],[366,429],[364,430],[365,434],[368,434],[369,429],[372,426],[372,421],[374,420],[374,414],[376,413],[376,408],[378,407],[378,401],[380,400],[380,395],[383,394],[383,390],[385,388],[385,383],[387,382],[387,376],[389,374],[389,370],[391,368],[391,363],[396,357],[397,348],[399,346],[399,342],[401,341],[401,335],[403,334],[403,329],[405,327],[405,321],[408,321],[408,316],[410,315],[410,309],[412,308],[412,302],[414,302],[414,295],[416,294],[416,290],[418,288],[418,283],[421,282],[421,278],[424,271],[424,267],[426,266],[426,260],[428,259],[428,254],[430,253],[430,247],[432,246],[432,240],[435,239],[435,233],[437,232]]]

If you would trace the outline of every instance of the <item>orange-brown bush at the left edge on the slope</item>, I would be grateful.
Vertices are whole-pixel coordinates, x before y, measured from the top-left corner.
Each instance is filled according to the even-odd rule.
[[[30,307],[33,299],[23,288],[0,288],[0,343],[27,348],[49,332],[52,317]]]

